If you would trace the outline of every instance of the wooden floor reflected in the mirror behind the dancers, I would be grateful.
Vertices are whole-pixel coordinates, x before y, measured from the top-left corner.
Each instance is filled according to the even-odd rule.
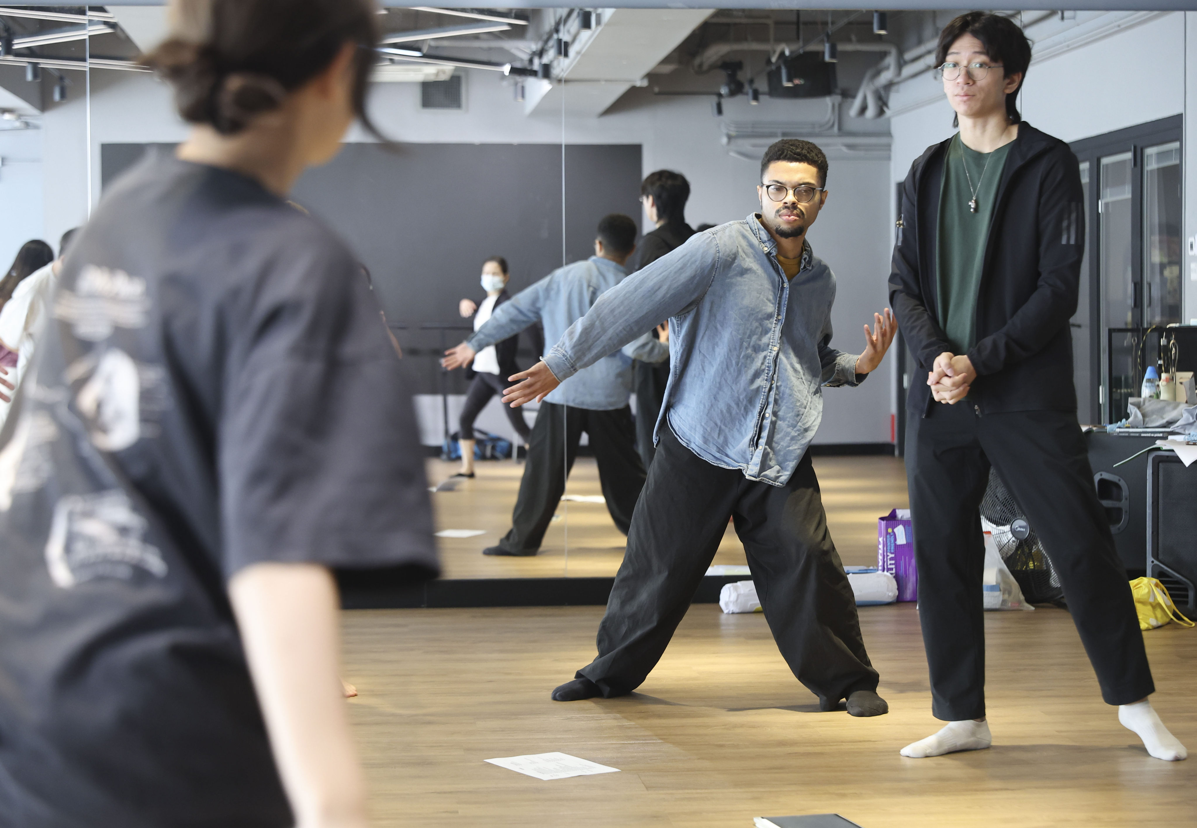
[[[427,462],[429,485],[457,470],[457,463]],[[603,503],[563,500],[535,558],[491,558],[481,554],[511,528],[523,464],[480,462],[476,477],[452,491],[432,495],[436,528],[482,530],[467,538],[439,538],[445,578],[610,577],[624,558],[625,537],[615,529]],[[824,507],[832,538],[845,565],[876,565],[877,517],[905,509],[906,471],[894,457],[816,457]],[[566,498],[602,494],[594,458],[579,457],[566,487]],[[743,565],[745,552],[729,529],[716,564]]]

